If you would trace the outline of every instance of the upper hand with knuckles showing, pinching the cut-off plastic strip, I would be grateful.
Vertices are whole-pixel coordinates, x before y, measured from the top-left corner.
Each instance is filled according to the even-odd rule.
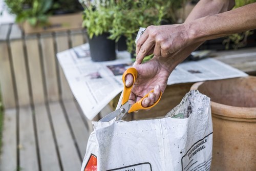
[[[188,44],[185,24],[148,26],[137,41],[136,62],[140,64],[146,55],[169,57]]]

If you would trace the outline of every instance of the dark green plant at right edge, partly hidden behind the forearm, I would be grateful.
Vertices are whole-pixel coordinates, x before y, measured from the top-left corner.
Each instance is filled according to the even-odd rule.
[[[255,3],[256,0],[236,0],[234,8],[239,8],[247,4]],[[233,49],[243,48],[247,45],[247,37],[253,34],[253,30],[248,30],[242,33],[231,34],[223,40],[226,49],[231,46]]]

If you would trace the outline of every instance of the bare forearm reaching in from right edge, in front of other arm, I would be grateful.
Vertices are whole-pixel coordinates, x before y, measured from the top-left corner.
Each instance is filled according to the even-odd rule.
[[[184,25],[188,32],[188,44],[256,29],[256,3],[205,16]]]

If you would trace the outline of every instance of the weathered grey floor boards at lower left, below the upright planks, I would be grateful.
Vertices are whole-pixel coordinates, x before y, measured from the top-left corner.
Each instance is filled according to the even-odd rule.
[[[79,170],[90,126],[74,101],[5,111],[0,170]]]

